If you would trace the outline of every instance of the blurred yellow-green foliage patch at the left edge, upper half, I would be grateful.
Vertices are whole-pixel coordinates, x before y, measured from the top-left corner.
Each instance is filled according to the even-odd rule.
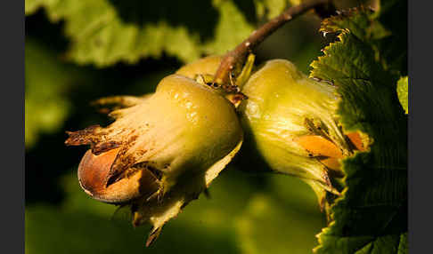
[[[69,101],[64,98],[73,69],[59,65],[42,45],[26,40],[26,147],[37,143],[38,132],[53,132],[69,113]]]

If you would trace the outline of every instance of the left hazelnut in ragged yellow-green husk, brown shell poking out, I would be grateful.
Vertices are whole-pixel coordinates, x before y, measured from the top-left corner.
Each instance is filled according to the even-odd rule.
[[[69,132],[66,144],[91,146],[81,187],[102,202],[129,204],[135,226],[153,225],[151,244],[239,151],[241,123],[230,101],[184,75],[168,75],[151,95],[113,100],[127,101],[110,113],[114,123]]]

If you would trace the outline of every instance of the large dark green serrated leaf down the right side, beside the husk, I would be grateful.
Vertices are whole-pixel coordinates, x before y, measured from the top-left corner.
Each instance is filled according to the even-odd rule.
[[[311,76],[338,87],[343,129],[363,131],[373,141],[369,152],[342,162],[345,189],[318,235],[317,253],[405,253],[407,120],[396,96],[397,77],[377,47],[387,36],[374,17],[361,8],[324,20],[322,31],[339,32],[339,41],[311,64]]]

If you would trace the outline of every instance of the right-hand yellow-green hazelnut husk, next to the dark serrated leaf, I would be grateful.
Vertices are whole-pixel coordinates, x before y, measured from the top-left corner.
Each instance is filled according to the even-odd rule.
[[[307,124],[316,123],[337,147],[347,146],[335,119],[335,87],[308,78],[288,60],[269,60],[250,76],[242,92],[249,98],[239,108],[244,145],[257,151],[273,171],[332,191],[327,169],[296,140],[317,135]]]

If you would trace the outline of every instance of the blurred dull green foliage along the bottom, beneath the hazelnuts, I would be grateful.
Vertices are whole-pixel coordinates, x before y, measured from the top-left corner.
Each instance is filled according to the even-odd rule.
[[[59,183],[66,191],[60,204],[27,207],[26,253],[308,253],[324,226],[303,182],[229,168],[213,183],[210,199],[190,203],[146,249],[149,227],[133,228],[115,206],[92,200],[73,173]]]

